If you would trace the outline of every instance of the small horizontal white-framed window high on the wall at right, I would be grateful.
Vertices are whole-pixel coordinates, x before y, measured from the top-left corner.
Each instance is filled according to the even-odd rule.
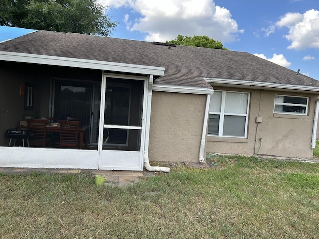
[[[307,115],[308,97],[275,95],[274,113]]]

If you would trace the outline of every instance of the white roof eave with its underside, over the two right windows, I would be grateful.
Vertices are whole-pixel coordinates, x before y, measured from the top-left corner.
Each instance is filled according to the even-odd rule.
[[[277,91],[293,91],[293,92],[310,92],[319,93],[317,86],[292,85],[292,84],[278,84],[272,82],[258,82],[258,81],[244,81],[221,78],[204,78],[204,80],[213,86],[227,86],[237,88],[251,88],[251,89],[269,89]]]

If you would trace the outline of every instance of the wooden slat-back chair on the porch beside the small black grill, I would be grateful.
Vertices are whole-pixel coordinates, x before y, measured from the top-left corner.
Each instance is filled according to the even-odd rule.
[[[29,139],[31,146],[46,147],[46,119],[26,119],[28,128],[32,131]]]

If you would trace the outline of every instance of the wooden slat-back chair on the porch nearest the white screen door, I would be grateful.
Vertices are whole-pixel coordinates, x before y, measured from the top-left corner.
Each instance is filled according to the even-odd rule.
[[[60,148],[77,148],[79,124],[79,121],[60,120]]]

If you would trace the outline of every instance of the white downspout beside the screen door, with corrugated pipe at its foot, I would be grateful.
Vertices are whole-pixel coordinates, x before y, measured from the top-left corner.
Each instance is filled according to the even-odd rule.
[[[149,139],[150,139],[150,121],[151,121],[151,101],[152,101],[153,75],[149,76],[146,119],[145,119],[145,143],[144,143],[144,167],[151,172],[169,173],[170,168],[151,166],[149,162]]]

